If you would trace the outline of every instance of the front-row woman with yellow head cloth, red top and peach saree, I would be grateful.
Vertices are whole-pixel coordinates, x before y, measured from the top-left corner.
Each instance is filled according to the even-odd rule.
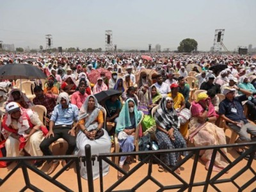
[[[226,138],[223,129],[217,127],[214,123],[218,118],[211,103],[211,99],[206,93],[199,93],[191,105],[192,118],[189,122],[189,140],[195,143],[196,147],[208,145],[225,145]],[[227,149],[221,148],[222,152],[227,155]],[[212,150],[201,150],[201,160],[208,170],[211,161]],[[218,152],[214,161],[214,172],[220,172],[227,166],[227,163],[221,161],[221,155]]]

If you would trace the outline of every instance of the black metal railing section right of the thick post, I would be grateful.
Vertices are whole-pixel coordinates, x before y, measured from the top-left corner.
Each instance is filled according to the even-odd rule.
[[[222,148],[231,148],[231,147],[248,147],[248,149],[246,149],[245,152],[243,154],[241,154],[241,156],[237,157],[237,159],[235,159],[234,161],[230,161],[230,159],[222,152],[221,149]],[[90,150],[90,147],[86,147],[86,159],[88,159],[87,161],[90,161],[90,159],[91,159],[91,157],[88,156],[89,150]],[[209,164],[209,170],[207,171],[205,180],[202,182],[196,182],[195,181],[195,173],[196,173],[198,160],[200,158],[200,150],[212,150],[212,157],[211,157],[211,162]],[[185,151],[189,152],[188,156],[184,157],[184,159],[179,161],[177,163],[177,165],[173,166],[172,168],[170,168],[167,164],[165,164],[163,161],[161,161],[161,159],[159,159],[159,157],[157,157],[157,155],[166,154],[166,153],[170,153],[170,152],[185,152]],[[225,160],[228,163],[228,166],[225,167],[223,170],[221,170],[221,172],[217,173],[214,177],[211,177],[213,166],[214,166],[214,161],[216,158],[216,154],[218,152],[221,154],[221,156],[223,158],[225,158]],[[128,179],[133,173],[138,171],[139,168],[141,166],[143,166],[143,164],[146,164],[146,163],[148,163],[147,175],[143,179],[138,181],[137,184],[135,184],[134,186],[131,186],[131,188],[122,189],[122,191],[136,191],[136,189],[140,188],[140,186],[145,184],[145,182],[147,182],[148,180],[151,180],[157,186],[159,186],[158,191],[164,191],[167,189],[177,189],[177,191],[185,191],[185,190],[192,191],[193,187],[197,187],[197,186],[204,186],[204,191],[207,191],[209,186],[214,188],[216,191],[221,191],[216,186],[216,184],[228,183],[228,182],[232,182],[232,184],[234,184],[234,186],[236,186],[238,191],[243,191],[244,189],[248,188],[248,186],[252,185],[253,182],[256,181],[256,172],[252,168],[252,163],[253,163],[253,159],[255,157],[255,152],[256,152],[256,142],[251,142],[251,143],[240,143],[240,144],[236,143],[236,144],[231,144],[231,145],[230,144],[229,145],[216,145],[216,146],[207,146],[207,147],[175,148],[172,150],[152,150],[152,151],[147,151],[147,152],[127,152],[127,153],[120,152],[120,153],[99,154],[99,156],[97,156],[97,160],[99,161],[99,168],[100,168],[100,191],[114,191],[114,189],[117,186],[122,184],[122,182],[124,182],[126,179]],[[137,155],[147,155],[147,157],[145,157],[145,159],[140,161],[140,163],[136,164],[136,166],[134,166],[134,168],[129,170],[129,172],[125,172],[125,170],[123,170],[118,165],[116,165],[111,160],[109,160],[109,157],[137,156]],[[235,173],[234,175],[232,175],[232,177],[230,177],[228,179],[220,179],[220,177],[222,175],[224,175],[225,173],[228,172],[228,170],[230,170],[231,168],[236,166],[236,164],[239,163],[240,161],[242,161],[244,159],[244,157],[246,157],[246,156],[250,156],[250,157],[249,157],[246,165],[243,168],[241,168],[241,170],[239,170],[237,173]],[[185,179],[182,179],[181,175],[178,175],[177,173],[175,173],[175,170],[180,168],[180,166],[182,166],[182,164],[186,163],[189,159],[191,159],[191,157],[193,157],[193,167],[191,170],[191,176],[190,176],[189,182],[186,182]],[[102,176],[102,161],[106,161],[106,163],[113,166],[113,168],[115,168],[116,170],[118,170],[119,172],[124,174],[123,177],[121,177],[119,180],[117,180],[112,186],[110,186],[106,190],[104,190],[104,187],[103,187],[104,182],[103,182],[103,176]],[[172,174],[182,184],[173,184],[173,185],[169,185],[169,186],[164,186],[156,178],[152,177],[153,161],[156,162],[157,164],[161,164],[165,170],[167,170],[170,174]],[[237,177],[242,175],[247,170],[250,170],[250,172],[252,172],[254,176],[252,177],[252,179],[248,179],[248,181],[245,184],[243,184],[243,186],[239,186],[239,184],[237,184],[237,182],[236,182],[236,179],[237,179]],[[139,178],[137,178],[136,181],[138,179]],[[90,185],[89,182],[88,182],[88,185]],[[93,191],[93,186],[91,186],[90,191]],[[255,189],[255,191],[256,191],[256,189]]]

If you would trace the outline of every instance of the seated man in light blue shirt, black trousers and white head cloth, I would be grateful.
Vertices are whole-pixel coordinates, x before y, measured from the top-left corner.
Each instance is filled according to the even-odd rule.
[[[40,148],[45,156],[52,156],[49,145],[60,138],[63,138],[68,143],[66,155],[71,155],[76,148],[75,127],[72,127],[72,125],[74,124],[74,120],[78,120],[78,108],[74,104],[70,104],[70,99],[66,92],[60,93],[57,102],[59,104],[55,106],[52,111],[49,123],[49,133],[40,144]],[[53,160],[47,174],[50,175],[53,173],[59,164],[59,160]],[[67,162],[62,161],[61,164],[62,166],[65,166]]]

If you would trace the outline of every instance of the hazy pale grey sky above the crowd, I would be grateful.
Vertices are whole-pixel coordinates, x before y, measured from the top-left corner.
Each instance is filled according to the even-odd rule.
[[[255,0],[1,0],[0,41],[15,47],[101,47],[112,30],[118,49],[147,50],[156,44],[175,50],[184,38],[209,51],[215,29],[225,29],[223,44],[256,47]]]

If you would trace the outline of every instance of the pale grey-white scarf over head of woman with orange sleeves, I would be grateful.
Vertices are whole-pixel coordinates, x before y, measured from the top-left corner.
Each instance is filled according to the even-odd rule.
[[[93,98],[94,102],[95,102],[94,109],[93,109],[92,113],[88,113],[88,102],[89,102],[90,98]],[[91,125],[91,124],[92,124],[92,122],[95,121],[95,119],[99,115],[99,112],[101,109],[102,109],[102,106],[100,106],[100,104],[98,103],[98,100],[96,99],[96,97],[94,95],[89,95],[88,97],[86,97],[86,100],[84,101],[83,106],[81,107],[81,109],[79,111],[78,119],[81,120],[81,119],[86,118],[84,126],[86,127],[86,129],[88,131],[91,131],[91,130],[97,128],[97,125],[95,127],[95,124],[93,124],[93,125]]]

